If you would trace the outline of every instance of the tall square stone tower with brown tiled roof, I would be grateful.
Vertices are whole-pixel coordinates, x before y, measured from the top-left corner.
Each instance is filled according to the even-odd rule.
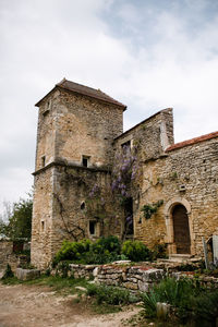
[[[104,227],[87,210],[86,199],[90,187],[109,182],[112,142],[122,133],[126,107],[66,80],[36,106],[32,264],[45,268],[63,239],[100,235]]]

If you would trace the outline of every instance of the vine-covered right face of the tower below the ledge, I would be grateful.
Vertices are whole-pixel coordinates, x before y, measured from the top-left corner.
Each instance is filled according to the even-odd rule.
[[[110,190],[110,173],[85,167],[57,167],[53,183],[52,253],[63,239],[120,237],[120,208]],[[96,222],[90,234],[89,221]]]

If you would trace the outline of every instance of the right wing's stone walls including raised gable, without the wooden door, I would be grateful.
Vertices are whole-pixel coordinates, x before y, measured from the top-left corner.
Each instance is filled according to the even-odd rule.
[[[166,109],[118,137],[117,152],[128,141],[137,145],[140,161],[131,190],[134,238],[149,247],[168,243],[169,253],[177,253],[172,209],[181,204],[189,215],[191,254],[202,256],[202,237],[218,233],[218,138],[166,150],[173,142],[172,111]],[[159,201],[164,204],[146,219],[143,206]]]

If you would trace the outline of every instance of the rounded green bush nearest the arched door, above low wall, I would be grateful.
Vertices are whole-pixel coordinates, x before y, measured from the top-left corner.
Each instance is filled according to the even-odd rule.
[[[122,245],[122,254],[133,262],[148,261],[152,255],[141,241],[125,241]]]

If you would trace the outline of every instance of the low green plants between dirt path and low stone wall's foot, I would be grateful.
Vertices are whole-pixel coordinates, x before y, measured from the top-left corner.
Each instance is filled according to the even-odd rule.
[[[104,284],[88,284],[87,295],[95,296],[97,304],[119,305],[135,302],[135,296],[131,295],[130,291]]]

